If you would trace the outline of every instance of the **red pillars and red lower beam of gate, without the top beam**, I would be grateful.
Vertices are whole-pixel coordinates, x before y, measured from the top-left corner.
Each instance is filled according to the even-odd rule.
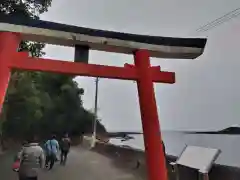
[[[167,180],[167,171],[153,82],[174,83],[175,73],[163,72],[160,66],[151,67],[149,52],[138,50],[135,65],[124,67],[74,63],[51,59],[31,58],[28,53],[16,52],[19,38],[13,33],[0,33],[0,109],[2,107],[12,68],[29,71],[48,71],[70,75],[136,80],[141,109],[149,180]]]

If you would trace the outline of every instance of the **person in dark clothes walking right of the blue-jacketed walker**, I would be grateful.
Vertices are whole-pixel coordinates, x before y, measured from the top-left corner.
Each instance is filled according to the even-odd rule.
[[[68,134],[65,134],[60,143],[60,150],[61,150],[60,164],[62,164],[62,165],[66,164],[70,146],[71,146],[71,140],[70,140]]]

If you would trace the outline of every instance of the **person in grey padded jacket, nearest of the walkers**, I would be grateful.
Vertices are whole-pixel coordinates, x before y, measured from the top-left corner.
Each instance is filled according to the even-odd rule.
[[[19,180],[37,180],[38,173],[44,165],[44,151],[36,143],[36,140],[29,139],[18,153],[20,167],[18,170]]]

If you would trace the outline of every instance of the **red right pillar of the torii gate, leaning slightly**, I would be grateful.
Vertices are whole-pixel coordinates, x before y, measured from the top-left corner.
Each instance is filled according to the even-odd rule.
[[[134,62],[139,76],[137,86],[148,168],[148,179],[167,180],[154,86],[150,71],[149,52],[147,50],[136,51],[134,54]]]

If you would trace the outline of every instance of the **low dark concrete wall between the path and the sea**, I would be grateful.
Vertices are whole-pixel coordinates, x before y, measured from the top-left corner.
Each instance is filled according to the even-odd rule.
[[[96,147],[92,149],[95,152],[108,156],[112,159],[114,165],[121,166],[133,171],[144,179],[147,179],[145,155],[143,151],[115,146],[112,144],[106,144],[97,142]],[[168,162],[174,162],[176,157],[168,156]],[[197,180],[198,173],[189,168],[180,167],[180,180]],[[168,164],[168,174],[170,180],[175,180],[175,173],[172,172],[172,167]],[[240,168],[214,165],[210,174],[210,180],[239,180]]]

